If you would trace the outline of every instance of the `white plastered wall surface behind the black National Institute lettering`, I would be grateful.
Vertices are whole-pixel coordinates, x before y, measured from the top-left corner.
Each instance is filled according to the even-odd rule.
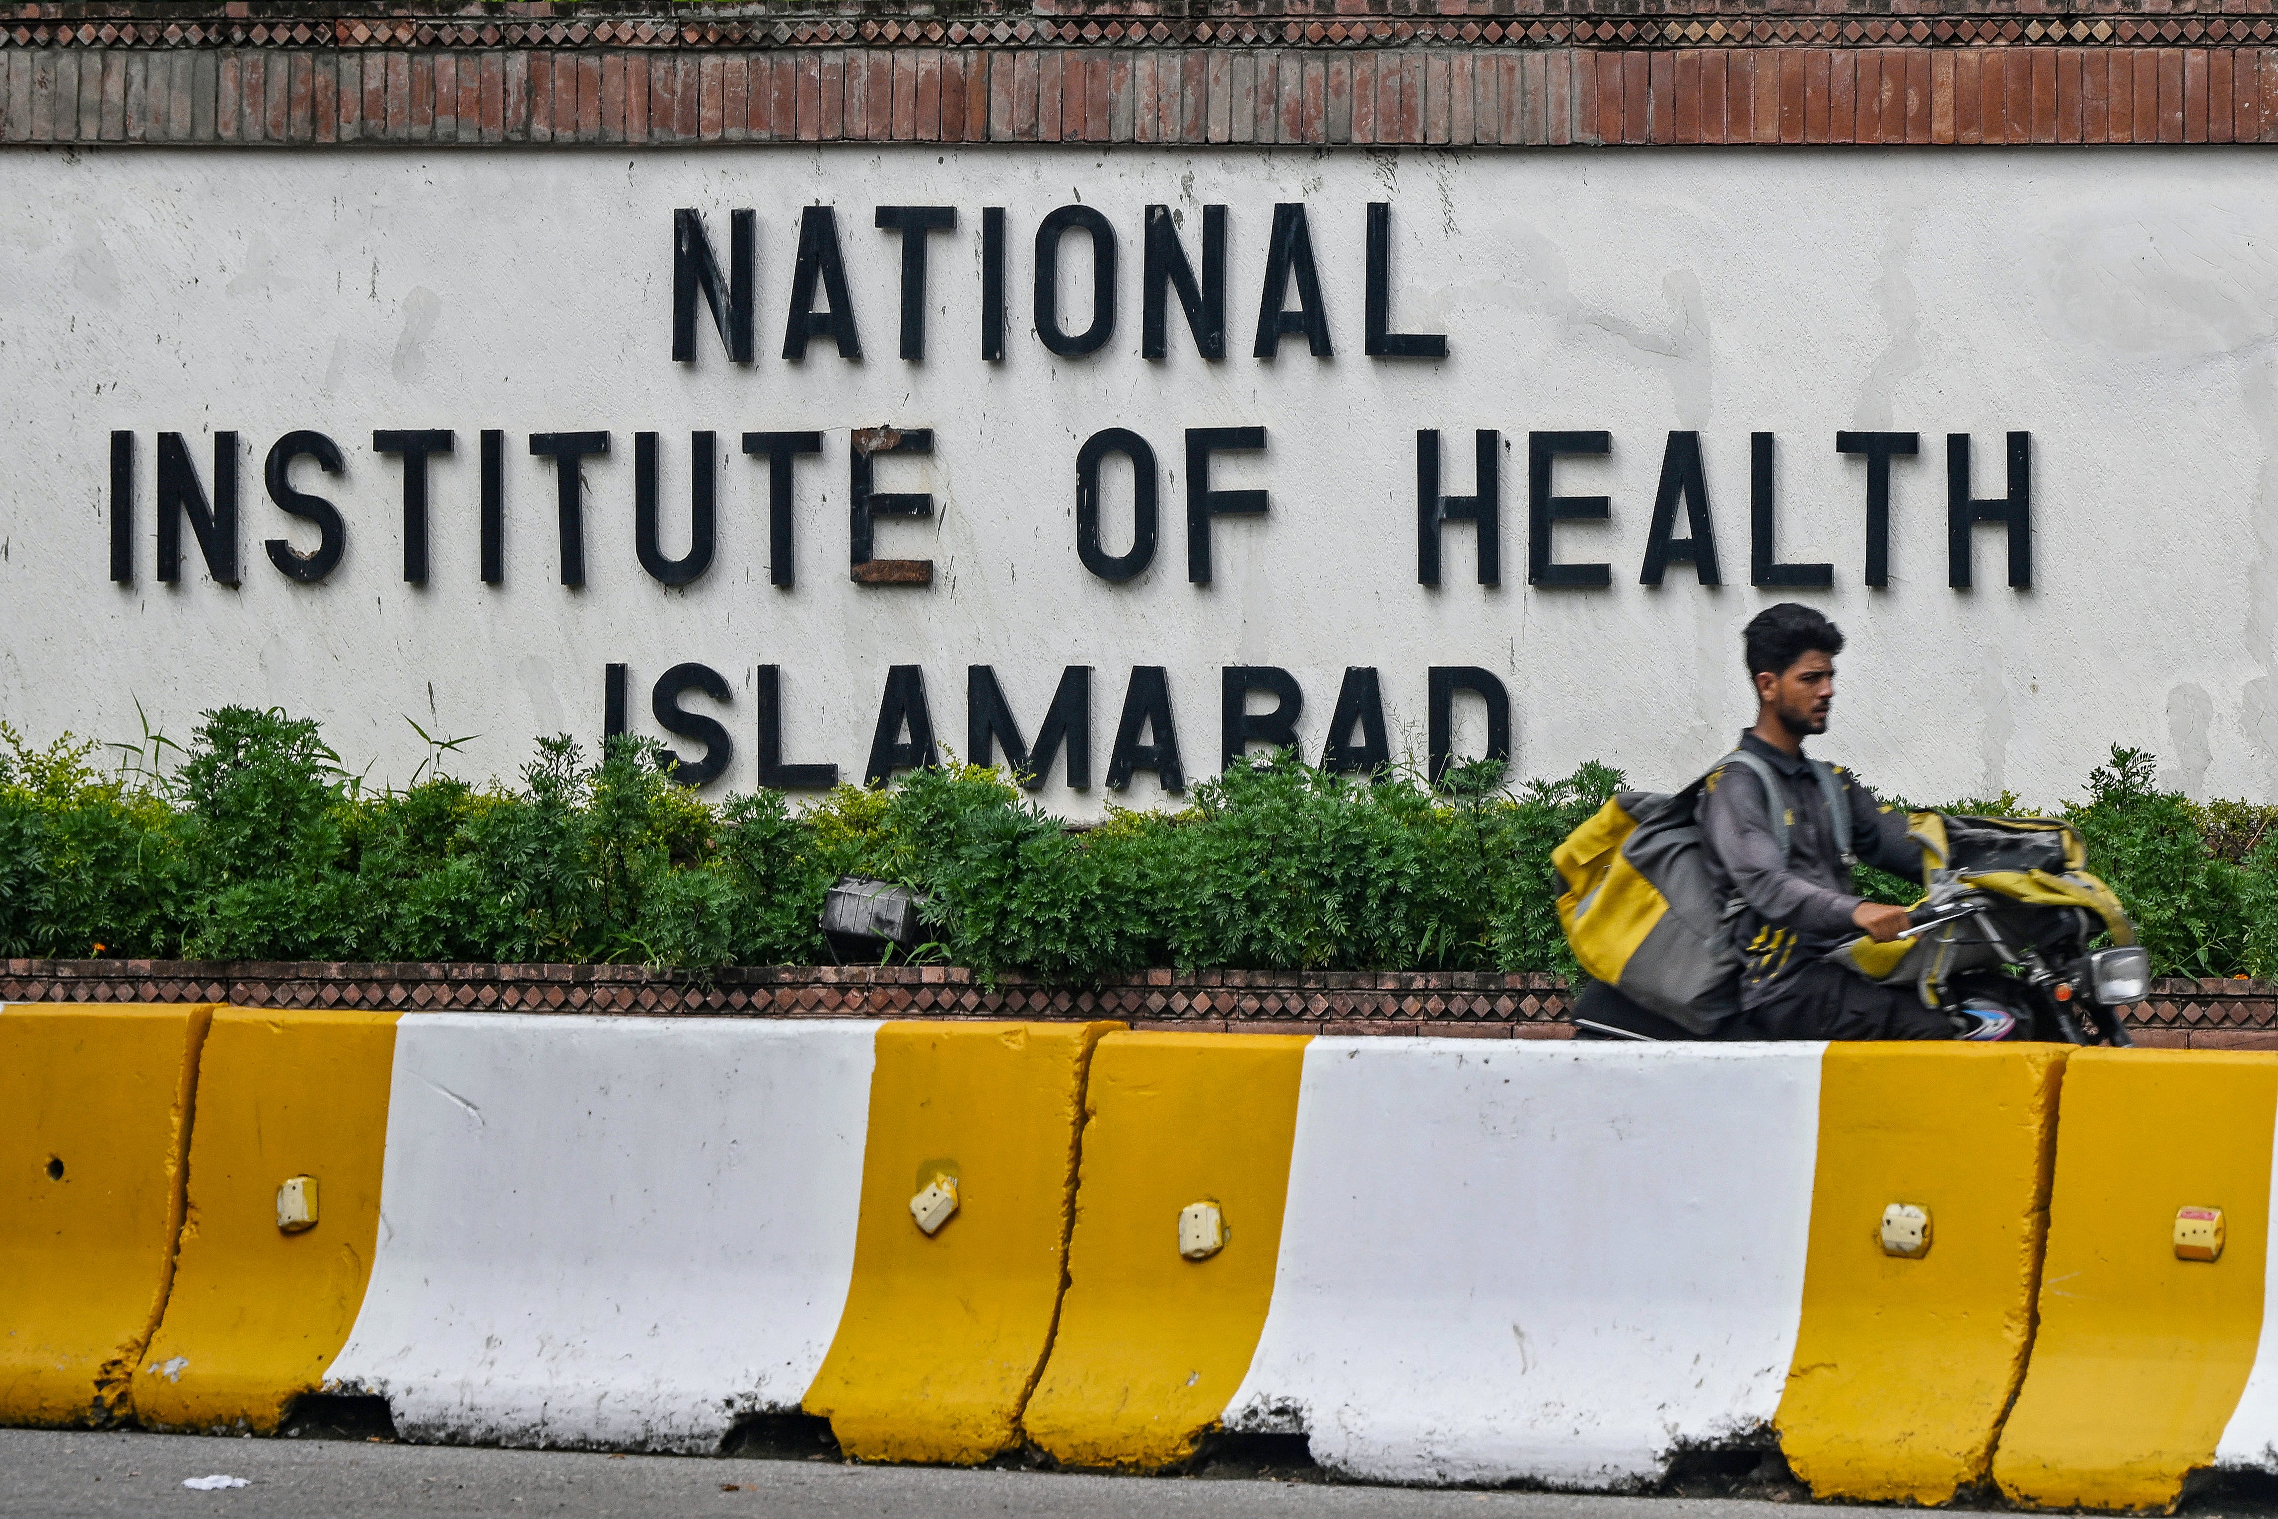
[[[1219,752],[1219,667],[1271,663],[1308,692],[1317,754],[1346,665],[1378,665],[1394,731],[1421,749],[1424,670],[1478,663],[1513,690],[1517,765],[1583,758],[1677,783],[1747,715],[1736,633],[1768,601],[1747,578],[1747,435],[1779,435],[1781,551],[1827,558],[1809,599],[1852,635],[1825,752],[1909,797],[2075,790],[2112,740],[2148,745],[2194,793],[2278,795],[2278,194],[2251,150],[2043,153],[1148,153],[752,148],[706,153],[9,155],[0,205],[0,715],[32,736],[132,738],[134,704],[175,740],[226,701],[319,715],[351,767],[410,774],[405,717],[481,736],[462,772],[513,774],[538,733],[595,736],[601,667],[633,667],[633,708],[672,663],[729,676],[749,786],[752,667],[786,670],[795,761],[857,772],[884,670],[920,663],[936,729],[964,742],[964,670],[991,663],[1034,726],[1066,663],[1098,667],[1105,770],[1132,663],[1171,667],[1191,774]],[[1030,239],[1073,198],[1121,232],[1114,342],[1055,360],[1027,332]],[[1447,330],[1442,364],[1360,353],[1362,207],[1394,203],[1396,321]],[[775,358],[795,207],[829,200],[868,358]],[[1139,348],[1141,205],[1232,212],[1237,358]],[[1292,342],[1248,358],[1273,200],[1310,205],[1337,358]],[[936,239],[932,358],[895,358],[898,239],[882,203],[954,203]],[[670,219],[761,212],[761,362],[704,335],[670,362]],[[1011,355],[977,358],[980,207],[1011,207]],[[1189,244],[1196,219],[1189,216]],[[1082,241],[1071,241],[1080,253]],[[1080,262],[1080,260],[1077,260]],[[932,524],[886,524],[879,553],[929,556],[934,590],[845,576],[845,430],[934,426]],[[1264,424],[1271,451],[1223,485],[1269,485],[1267,519],[1216,531],[1219,578],[1185,581],[1185,426]],[[451,426],[435,467],[435,578],[401,581],[399,474],[378,426]],[[510,433],[508,581],[476,578],[476,430]],[[1155,440],[1164,542],[1130,585],[1073,549],[1073,455],[1105,426]],[[1499,590],[1469,581],[1449,531],[1440,590],[1415,583],[1417,426],[1501,428]],[[137,583],[107,578],[107,433],[141,435]],[[244,583],[150,574],[150,435],[246,440]],[[287,519],[260,462],[287,428],[349,453],[333,494],[349,553],[330,583],[287,583],[262,540]],[[556,583],[551,462],[526,435],[606,428],[590,467],[590,583]],[[800,583],[765,578],[763,471],[722,467],[722,549],[688,590],[638,569],[631,435],[665,433],[674,542],[690,428],[825,428],[802,471]],[[1604,592],[1524,583],[1524,433],[1608,428],[1615,453],[1560,490],[1613,496],[1608,526],[1560,533],[1606,558]],[[1636,583],[1665,435],[1704,435],[1727,585]],[[1909,428],[1893,585],[1861,581],[1863,467],[1838,428]],[[2000,435],[2034,435],[2037,588],[2002,585],[1980,531],[1980,590],[1945,588],[1943,435],[1977,440],[1998,494]],[[210,469],[205,444],[200,460]],[[303,465],[303,474],[312,474]],[[1121,508],[1114,512],[1121,542]],[[308,542],[305,531],[301,540]],[[1396,740],[1399,742],[1399,740]],[[1059,788],[1087,813],[1107,793]],[[1141,779],[1130,804],[1157,799]]]

